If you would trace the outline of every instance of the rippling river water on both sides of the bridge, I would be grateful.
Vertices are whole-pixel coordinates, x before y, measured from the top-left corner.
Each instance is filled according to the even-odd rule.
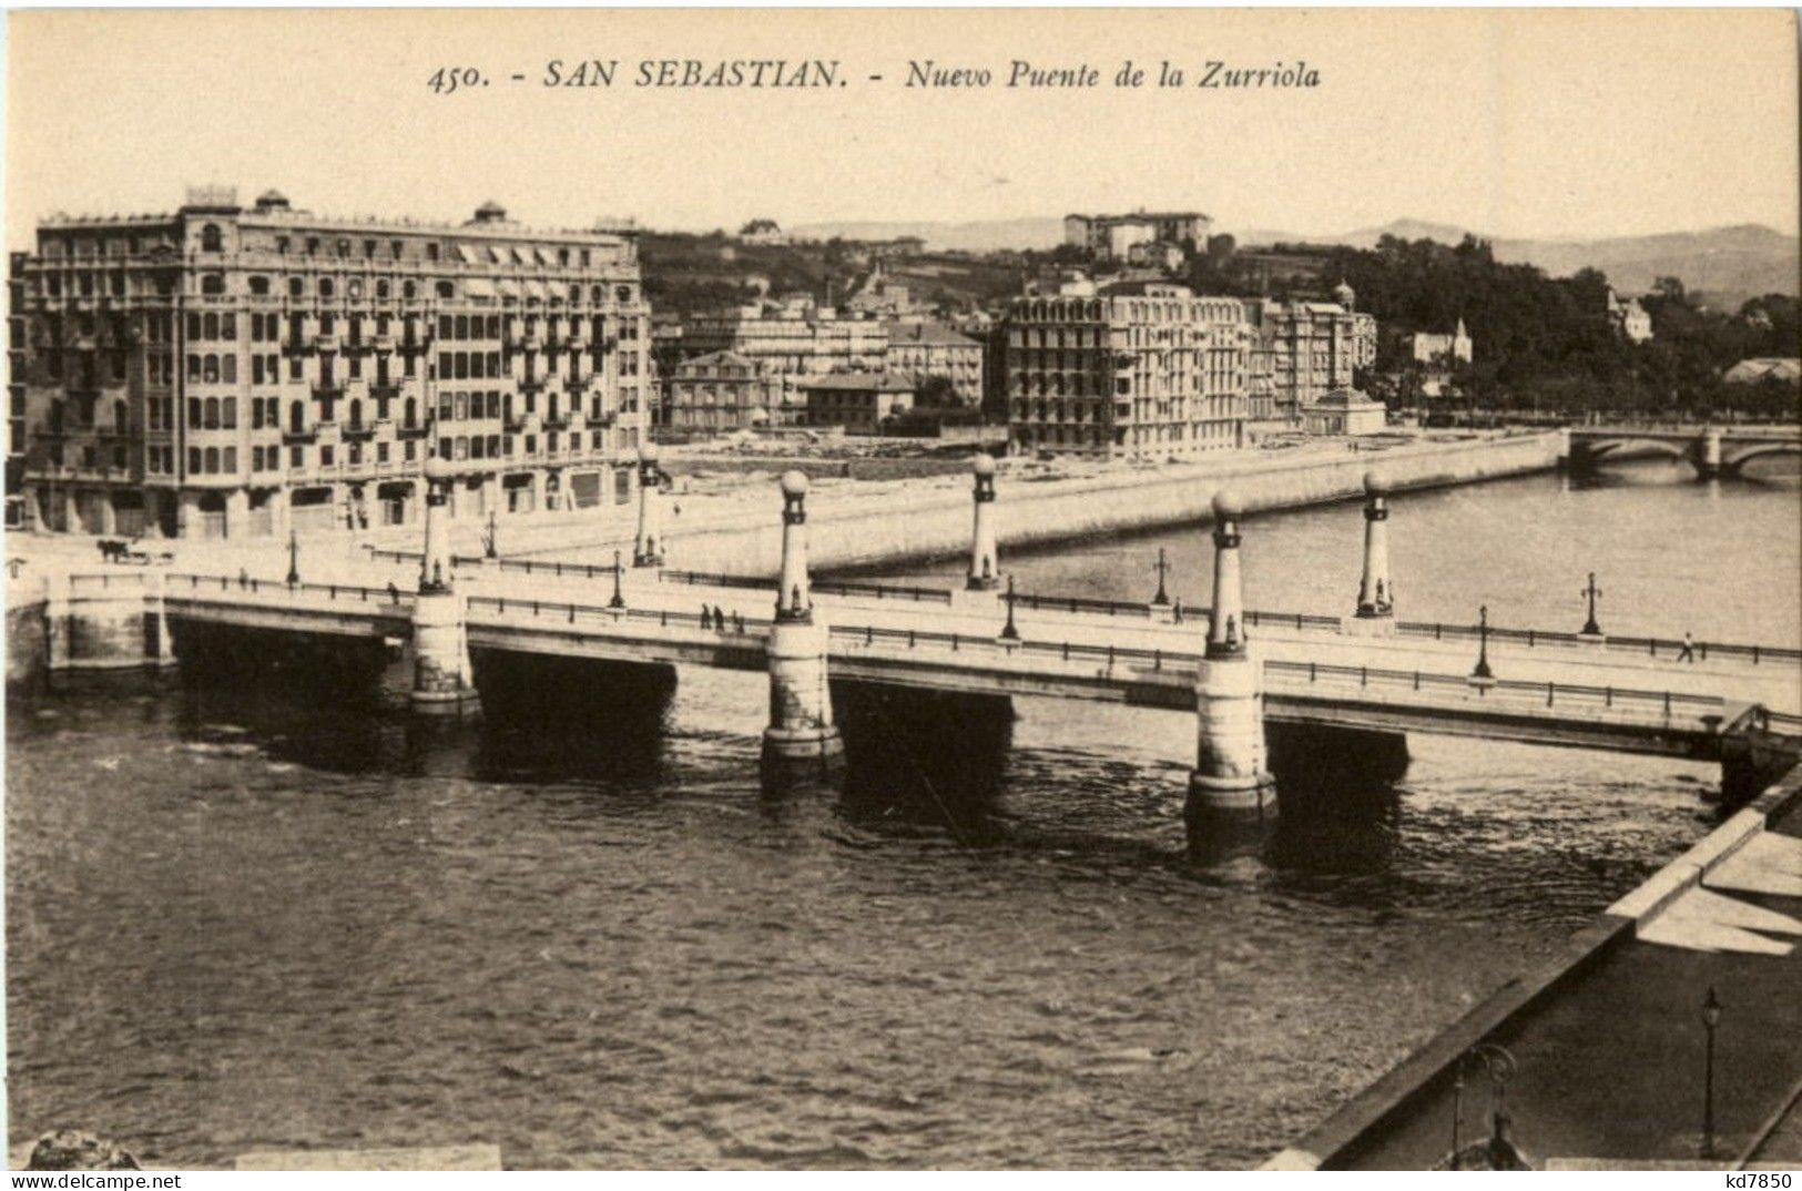
[[[1402,495],[1398,602],[1575,629],[1595,569],[1613,632],[1795,645],[1798,508],[1663,465]],[[1348,611],[1359,533],[1251,519],[1247,602]],[[1142,598],[1159,546],[1200,602],[1200,528],[1006,564]],[[1694,840],[1716,780],[1416,737],[1393,789],[1191,849],[1168,712],[860,701],[845,789],[768,798],[755,674],[537,672],[463,730],[377,677],[240,641],[9,705],[14,1142],[1252,1164]]]

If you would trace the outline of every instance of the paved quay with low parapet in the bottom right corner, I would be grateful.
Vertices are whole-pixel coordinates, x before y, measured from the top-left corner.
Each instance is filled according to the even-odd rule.
[[[1755,868],[1746,863],[1753,850],[1771,859]],[[1481,1061],[1461,1061],[1474,1047],[1512,1058],[1501,1103],[1514,1144],[1535,1166],[1802,1162],[1793,1099],[1802,1079],[1802,769],[1687,858],[1703,861],[1694,877],[1679,858],[1580,932],[1564,957],[1499,989],[1269,1168],[1442,1164],[1460,1065],[1460,1146],[1485,1141],[1496,1090]],[[1699,917],[1685,910],[1696,905]],[[1710,989],[1721,1005],[1712,1159],[1703,1141]]]

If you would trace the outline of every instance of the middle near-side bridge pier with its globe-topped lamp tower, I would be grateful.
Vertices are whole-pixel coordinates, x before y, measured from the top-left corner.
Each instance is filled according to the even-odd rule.
[[[845,742],[833,723],[827,685],[827,625],[813,607],[807,580],[807,476],[782,476],[782,571],[769,625],[769,726],[764,728],[766,784],[834,777]]]

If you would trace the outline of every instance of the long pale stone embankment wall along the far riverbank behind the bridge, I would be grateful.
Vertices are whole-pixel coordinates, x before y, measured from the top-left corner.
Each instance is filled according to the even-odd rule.
[[[1452,443],[1420,443],[1382,452],[1306,454],[1292,459],[1234,459],[1070,479],[1000,479],[1002,553],[1101,533],[1191,524],[1209,519],[1216,490],[1231,486],[1251,512],[1301,508],[1355,497],[1364,472],[1379,470],[1397,490],[1478,483],[1552,470],[1564,434],[1523,434]],[[843,490],[807,501],[815,568],[849,569],[960,555],[969,550],[971,501],[964,485],[890,501],[843,501]],[[721,519],[701,530],[670,528],[672,566],[760,575],[780,559],[780,508]],[[546,557],[550,553],[546,551]],[[575,551],[566,557],[580,557]],[[586,559],[586,560],[598,560]]]

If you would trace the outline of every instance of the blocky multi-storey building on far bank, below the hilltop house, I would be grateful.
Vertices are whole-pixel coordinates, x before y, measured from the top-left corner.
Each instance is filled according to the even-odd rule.
[[[1015,449],[1162,459],[1243,443],[1252,328],[1240,299],[1179,285],[1022,297],[1004,337]]]

